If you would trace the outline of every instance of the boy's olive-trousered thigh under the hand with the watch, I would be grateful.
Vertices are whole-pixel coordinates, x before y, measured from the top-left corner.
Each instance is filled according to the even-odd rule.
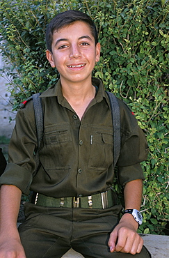
[[[86,258],[150,258],[146,248],[136,255],[122,252],[111,253],[108,248],[108,239],[118,219],[107,216],[96,220],[88,220],[76,225],[76,234],[73,234],[72,248]],[[83,232],[83,233],[82,233]],[[87,233],[88,232],[88,233]]]

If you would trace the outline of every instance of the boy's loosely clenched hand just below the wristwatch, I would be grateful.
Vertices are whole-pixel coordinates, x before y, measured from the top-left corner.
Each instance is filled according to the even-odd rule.
[[[138,222],[134,220],[131,214],[124,214],[119,224],[111,232],[108,246],[110,252],[127,252],[136,255],[143,248],[143,238],[136,230]]]

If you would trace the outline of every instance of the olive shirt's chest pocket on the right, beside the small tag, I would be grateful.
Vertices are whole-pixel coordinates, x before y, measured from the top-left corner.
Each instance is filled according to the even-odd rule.
[[[90,145],[88,167],[108,169],[113,162],[113,133],[96,131]]]

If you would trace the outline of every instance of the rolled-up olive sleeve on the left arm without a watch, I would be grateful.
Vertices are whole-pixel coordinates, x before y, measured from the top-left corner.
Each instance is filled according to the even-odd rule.
[[[32,109],[31,106],[28,109]],[[9,144],[9,162],[0,177],[0,185],[15,185],[26,195],[29,194],[36,168],[34,151],[37,146],[34,114],[29,112],[32,116],[28,117],[28,111],[21,109],[17,112],[16,125]]]

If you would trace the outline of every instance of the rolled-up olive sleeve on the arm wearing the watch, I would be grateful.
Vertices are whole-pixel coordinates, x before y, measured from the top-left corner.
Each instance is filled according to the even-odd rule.
[[[144,179],[140,162],[147,160],[148,144],[143,130],[138,126],[129,108],[121,112],[121,149],[118,159],[118,179],[121,185],[136,179]]]

